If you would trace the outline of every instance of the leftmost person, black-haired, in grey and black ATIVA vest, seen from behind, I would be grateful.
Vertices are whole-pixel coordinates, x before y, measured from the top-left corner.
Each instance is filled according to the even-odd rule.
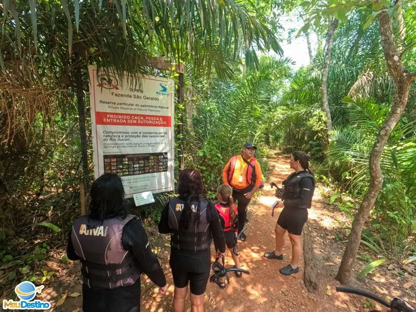
[[[140,275],[166,292],[166,279],[142,223],[127,214],[117,175],[104,174],[91,187],[87,216],[77,219],[66,253],[81,261],[84,312],[140,311]]]

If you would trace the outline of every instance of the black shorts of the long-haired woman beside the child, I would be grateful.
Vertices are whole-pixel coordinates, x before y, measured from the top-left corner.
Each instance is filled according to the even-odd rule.
[[[211,251],[182,252],[171,249],[170,268],[174,285],[178,288],[187,287],[193,295],[202,295],[211,271]]]

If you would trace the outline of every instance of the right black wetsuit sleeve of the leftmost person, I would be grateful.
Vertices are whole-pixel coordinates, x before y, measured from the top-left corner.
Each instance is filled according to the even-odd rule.
[[[125,250],[133,253],[138,265],[153,283],[159,287],[166,285],[165,274],[149,246],[145,229],[140,221],[133,219],[125,225],[121,242]]]

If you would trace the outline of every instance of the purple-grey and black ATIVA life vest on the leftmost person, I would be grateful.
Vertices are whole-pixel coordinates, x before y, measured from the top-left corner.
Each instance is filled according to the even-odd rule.
[[[103,221],[81,217],[74,222],[71,240],[82,259],[82,282],[90,288],[115,289],[134,284],[141,270],[131,252],[123,248],[124,226],[135,218],[112,218]]]

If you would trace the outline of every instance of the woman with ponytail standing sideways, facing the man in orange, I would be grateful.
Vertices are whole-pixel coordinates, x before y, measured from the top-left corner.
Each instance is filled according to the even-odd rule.
[[[285,233],[289,232],[292,244],[292,261],[280,269],[281,274],[290,275],[299,272],[299,259],[301,250],[301,235],[303,225],[308,218],[308,209],[312,204],[315,191],[315,178],[309,170],[309,156],[304,152],[294,152],[290,157],[290,167],[295,170],[283,181],[282,200],[274,207],[284,207],[274,233],[276,234],[276,248],[272,252],[266,252],[264,257],[268,259],[283,260],[282,248],[285,245]]]

